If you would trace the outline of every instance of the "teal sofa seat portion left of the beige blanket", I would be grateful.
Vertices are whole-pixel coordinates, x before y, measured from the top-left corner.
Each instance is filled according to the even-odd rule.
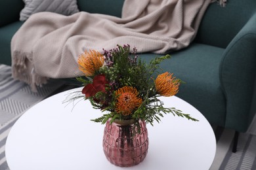
[[[11,65],[11,39],[24,22],[12,22],[0,28],[1,63]]]

